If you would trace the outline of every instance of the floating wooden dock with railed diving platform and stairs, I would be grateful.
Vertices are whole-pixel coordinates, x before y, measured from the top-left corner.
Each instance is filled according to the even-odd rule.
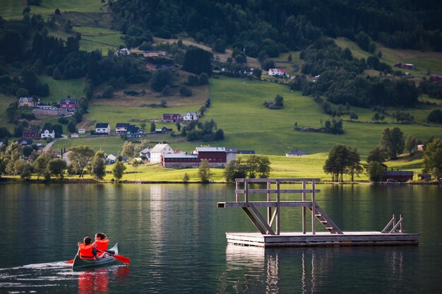
[[[402,220],[395,216],[381,231],[343,232],[333,220],[318,206],[315,200],[316,182],[319,179],[236,179],[235,201],[218,202],[218,208],[241,208],[249,217],[258,232],[226,233],[227,242],[232,245],[256,247],[297,247],[297,246],[355,246],[355,245],[417,245],[419,234],[403,233]],[[265,189],[251,189],[250,184],[265,185]],[[281,184],[301,184],[301,189],[281,189]],[[311,189],[306,189],[311,184]],[[241,187],[242,185],[242,187]],[[272,188],[273,185],[273,188]],[[251,201],[251,195],[266,194],[266,201]],[[281,201],[281,194],[298,194],[301,199]],[[307,200],[306,195],[311,194]],[[244,201],[240,201],[241,195]],[[298,197],[299,198],[299,197]],[[301,232],[280,230],[280,211],[282,207],[299,207],[302,209]],[[258,211],[265,208],[266,218]],[[307,232],[307,210],[311,215],[311,232]],[[316,223],[321,223],[328,232],[316,232]]]

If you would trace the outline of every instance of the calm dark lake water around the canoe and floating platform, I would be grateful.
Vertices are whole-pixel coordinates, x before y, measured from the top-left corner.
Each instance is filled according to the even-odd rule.
[[[382,230],[393,213],[419,246],[227,246],[256,231],[225,184],[1,184],[0,293],[441,293],[442,189],[318,185],[346,230]],[[282,231],[301,230],[299,208]],[[317,225],[317,230],[321,225]],[[107,233],[131,264],[72,271],[77,242]]]

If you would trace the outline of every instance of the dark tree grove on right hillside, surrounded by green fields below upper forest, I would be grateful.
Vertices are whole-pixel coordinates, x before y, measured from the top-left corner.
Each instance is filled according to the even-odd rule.
[[[302,90],[304,95],[325,95],[329,102],[360,107],[417,104],[419,91],[412,81],[364,76],[364,59],[355,59],[349,49],[332,40],[316,41],[300,57],[306,61],[302,73],[318,76],[316,82],[301,77],[292,81],[292,90]]]

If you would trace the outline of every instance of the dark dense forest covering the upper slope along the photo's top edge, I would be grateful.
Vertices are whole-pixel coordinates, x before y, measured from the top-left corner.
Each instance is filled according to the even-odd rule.
[[[219,51],[232,44],[250,57],[302,49],[322,35],[349,37],[364,49],[379,40],[390,47],[442,50],[442,8],[431,0],[120,0],[112,12],[124,34],[146,32],[148,40],[150,32],[172,37],[186,31]]]

